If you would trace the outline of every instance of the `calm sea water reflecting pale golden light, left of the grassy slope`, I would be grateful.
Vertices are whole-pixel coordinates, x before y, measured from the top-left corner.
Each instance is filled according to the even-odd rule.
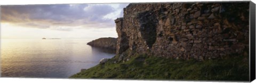
[[[68,78],[97,65],[106,53],[90,39],[1,39],[1,77]]]

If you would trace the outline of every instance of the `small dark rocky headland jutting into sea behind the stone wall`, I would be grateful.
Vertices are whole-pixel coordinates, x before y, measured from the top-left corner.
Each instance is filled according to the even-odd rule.
[[[116,49],[116,38],[99,38],[87,43],[87,45],[100,48]]]

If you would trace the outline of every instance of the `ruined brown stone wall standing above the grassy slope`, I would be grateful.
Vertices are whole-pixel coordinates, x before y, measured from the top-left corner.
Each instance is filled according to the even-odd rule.
[[[249,51],[249,2],[130,4],[115,22],[117,54],[205,60]]]

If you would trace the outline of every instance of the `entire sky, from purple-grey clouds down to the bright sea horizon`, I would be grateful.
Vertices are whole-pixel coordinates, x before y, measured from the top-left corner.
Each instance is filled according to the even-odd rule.
[[[117,37],[116,18],[128,3],[1,5],[3,39]]]

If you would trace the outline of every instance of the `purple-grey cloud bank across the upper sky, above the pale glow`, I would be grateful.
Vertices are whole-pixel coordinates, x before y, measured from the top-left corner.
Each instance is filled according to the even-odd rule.
[[[2,5],[1,22],[61,31],[71,31],[72,27],[113,28],[113,19],[122,14],[116,12],[127,4],[112,5],[117,4]]]

